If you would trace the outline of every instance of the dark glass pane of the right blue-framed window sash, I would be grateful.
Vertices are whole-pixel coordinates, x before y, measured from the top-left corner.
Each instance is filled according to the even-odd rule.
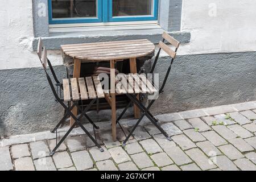
[[[151,15],[152,0],[113,0],[113,16]]]

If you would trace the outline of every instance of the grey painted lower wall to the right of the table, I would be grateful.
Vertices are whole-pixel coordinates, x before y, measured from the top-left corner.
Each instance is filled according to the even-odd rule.
[[[256,52],[177,56],[154,113],[256,100]],[[169,61],[162,59],[156,73]],[[161,76],[160,76],[161,77]]]

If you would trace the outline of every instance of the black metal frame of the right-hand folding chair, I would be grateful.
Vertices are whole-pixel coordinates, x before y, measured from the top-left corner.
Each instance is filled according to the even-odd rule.
[[[165,41],[165,39],[163,39],[163,42]],[[177,49],[175,49],[175,53],[177,52]],[[154,64],[152,65],[152,68],[151,68],[151,71],[150,73],[154,73],[154,70],[155,70],[155,66],[156,66],[156,63],[158,62],[158,59],[159,59],[159,55],[160,55],[160,52],[161,52],[161,48],[159,48],[159,51],[155,57],[155,60],[154,60]],[[172,64],[174,63],[174,58],[171,59],[171,63],[170,63],[170,66],[168,67],[167,69],[167,72],[166,72],[166,76],[164,77],[164,81],[162,83],[162,86],[160,87],[159,89],[159,94],[162,94],[163,93],[163,89],[164,89],[164,86],[166,85],[166,82],[167,82],[167,79],[168,79],[168,76],[170,75],[170,72],[171,72],[171,68],[172,68]],[[139,74],[141,74],[141,71],[139,72]],[[152,81],[152,85],[154,85],[154,82]],[[157,128],[158,130],[164,135],[164,137],[166,137],[168,140],[172,140],[171,137],[169,137],[169,135],[166,133],[166,131],[164,131],[162,129],[162,127],[160,127],[158,125],[158,119],[156,119],[154,117],[154,115],[152,115],[150,113],[150,107],[154,104],[154,102],[156,100],[152,100],[147,107],[145,107],[141,101],[138,100],[137,98],[137,95],[138,94],[126,94],[127,97],[129,97],[130,99],[130,102],[129,104],[125,107],[125,109],[122,111],[121,115],[119,115],[119,117],[117,118],[117,123],[118,125],[121,127],[122,129],[122,126],[120,124],[120,119],[123,117],[123,115],[125,114],[125,112],[127,111],[127,109],[129,109],[129,107],[133,104],[135,104],[141,111],[142,111],[142,115],[141,115],[141,118],[138,119],[137,123],[135,123],[133,129],[130,131],[129,135],[126,136],[124,130],[122,129],[123,133],[125,134],[126,136],[126,139],[123,141],[123,144],[122,144],[122,147],[125,147],[126,145],[126,142],[129,140],[129,138],[131,137],[131,135],[134,133],[135,129],[138,127],[139,123],[142,121],[143,117],[146,115],[146,117],[150,120],[151,123],[153,123]]]

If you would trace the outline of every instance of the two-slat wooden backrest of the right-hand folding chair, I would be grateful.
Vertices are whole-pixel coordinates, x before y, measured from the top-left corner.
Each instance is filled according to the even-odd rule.
[[[163,43],[162,41],[159,42],[159,47],[162,48],[163,51],[166,52],[169,56],[171,56],[172,59],[175,59],[177,49],[180,46],[179,41],[174,39],[172,36],[168,35],[166,32],[163,32],[163,39],[167,40],[167,42],[174,46],[176,49],[175,51],[172,50],[169,46],[167,46],[167,44]]]

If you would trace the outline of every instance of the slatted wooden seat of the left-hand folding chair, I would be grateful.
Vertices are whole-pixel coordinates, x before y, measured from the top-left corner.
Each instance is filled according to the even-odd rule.
[[[98,76],[63,79],[64,101],[79,101],[104,98],[101,81]]]

